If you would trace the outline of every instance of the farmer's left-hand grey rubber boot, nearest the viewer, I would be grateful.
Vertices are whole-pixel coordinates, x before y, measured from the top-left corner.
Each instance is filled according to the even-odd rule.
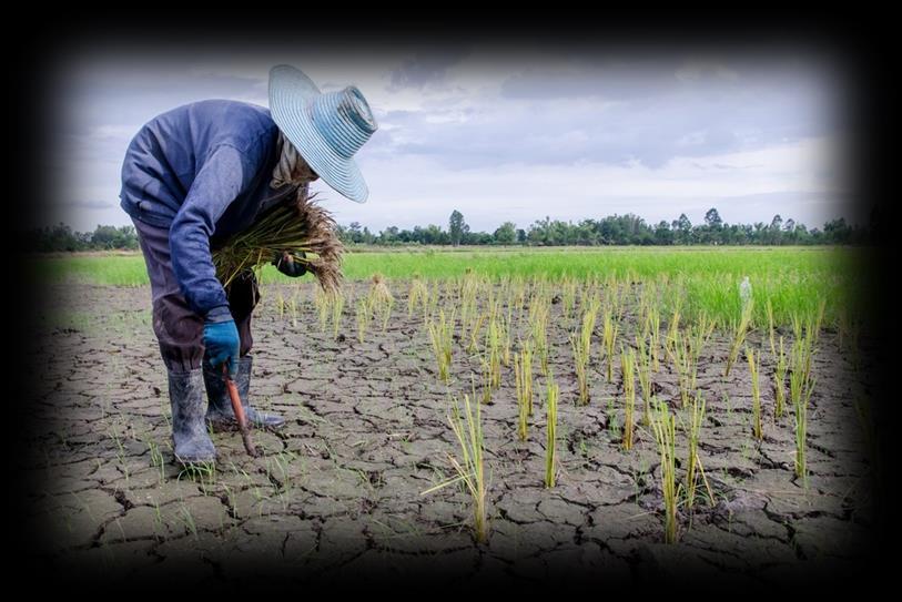
[[[172,441],[175,459],[183,463],[212,463],[216,448],[204,422],[203,375],[201,370],[169,373],[172,405]]]

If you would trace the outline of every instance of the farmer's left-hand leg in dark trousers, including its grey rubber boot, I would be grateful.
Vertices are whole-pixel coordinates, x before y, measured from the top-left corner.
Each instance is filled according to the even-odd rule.
[[[203,318],[194,314],[172,273],[169,231],[133,220],[151,280],[153,331],[166,366],[176,460],[211,462],[216,450],[204,424]]]

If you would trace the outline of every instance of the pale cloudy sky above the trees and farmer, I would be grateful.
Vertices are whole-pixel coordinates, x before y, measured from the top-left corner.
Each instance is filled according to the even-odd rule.
[[[322,90],[356,84],[379,129],[358,153],[369,201],[317,182],[342,224],[475,231],[546,215],[578,221],[635,213],[693,223],[809,226],[851,215],[850,134],[834,65],[803,53],[568,52],[476,45],[347,53],[150,50],[75,53],[57,67],[59,143],[41,220],[77,229],[128,224],[119,208],[130,139],[154,115],[224,98],[267,105],[270,67],[293,64]]]

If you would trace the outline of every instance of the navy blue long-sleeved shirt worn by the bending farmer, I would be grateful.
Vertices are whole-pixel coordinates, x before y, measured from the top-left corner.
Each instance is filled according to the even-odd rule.
[[[192,310],[230,319],[211,244],[250,226],[287,197],[270,188],[278,127],[270,111],[210,100],[179,106],[146,123],[122,165],[122,208],[170,231],[172,269]]]

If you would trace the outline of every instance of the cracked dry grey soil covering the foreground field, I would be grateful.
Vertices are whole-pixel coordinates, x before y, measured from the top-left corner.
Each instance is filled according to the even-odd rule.
[[[838,350],[834,334],[822,334],[813,367],[807,489],[793,475],[791,416],[773,419],[772,358],[762,354],[764,439],[757,442],[748,366],[721,378],[729,341],[714,335],[699,366],[708,405],[700,453],[714,500],[681,512],[679,542],[666,545],[653,436],[639,427],[635,449],[620,449],[621,391],[605,381],[598,343],[591,402],[574,404],[567,334],[575,323],[559,305],[549,326],[561,387],[558,486],[543,486],[544,395],[521,443],[513,367],[504,368],[500,390],[483,406],[490,537],[476,544],[462,489],[420,492],[452,475],[447,455],[457,442],[448,391],[469,391],[478,358],[456,345],[452,385],[440,384],[422,317],[407,316],[407,283],[389,285],[397,303],[387,328],[374,323],[363,344],[353,302],[336,339],[320,328],[312,283],[297,287],[294,324],[274,307],[276,285],[264,287],[252,399],[283,414],[287,426],[253,432],[264,450],[256,459],[236,433],[213,435],[219,460],[207,477],[180,475],[172,463],[149,289],[49,289],[27,349],[32,445],[21,458],[22,520],[40,535],[29,553],[100,579],[220,583],[277,573],[341,583],[429,574],[448,582],[504,575],[615,583],[703,572],[759,589],[853,570],[864,554],[873,500],[854,405],[864,371]],[[367,284],[348,286],[359,296]],[[282,288],[286,298],[294,290]],[[761,337],[753,331],[749,339],[761,346]],[[535,378],[544,391],[545,379]],[[672,367],[653,380],[677,408]],[[678,439],[685,461],[685,436]]]

